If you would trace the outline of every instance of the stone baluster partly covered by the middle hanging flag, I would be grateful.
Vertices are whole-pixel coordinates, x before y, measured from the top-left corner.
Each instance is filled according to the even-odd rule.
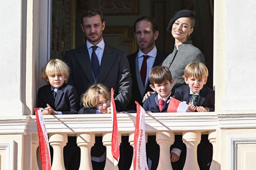
[[[118,170],[118,165],[114,166],[113,163],[113,155],[111,152],[111,140],[112,140],[112,132],[103,133],[102,134],[102,143],[106,147],[106,164],[104,170]],[[119,145],[121,143],[121,134],[119,134]]]

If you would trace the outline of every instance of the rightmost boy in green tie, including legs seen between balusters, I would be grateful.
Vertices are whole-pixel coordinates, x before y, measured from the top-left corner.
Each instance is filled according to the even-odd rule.
[[[174,98],[189,104],[191,110],[194,112],[214,112],[215,92],[204,86],[208,77],[207,67],[199,62],[188,64],[184,70],[184,79],[186,85],[175,90]],[[181,140],[176,141],[182,143]],[[185,163],[185,153],[183,150],[183,157],[181,158],[180,168],[182,169]],[[209,169],[208,163],[212,160],[212,145],[208,140],[208,135],[201,135],[201,142],[197,147],[197,160],[200,169]],[[208,154],[205,154],[208,153]],[[178,167],[178,165],[175,165]],[[173,169],[177,169],[174,168]]]

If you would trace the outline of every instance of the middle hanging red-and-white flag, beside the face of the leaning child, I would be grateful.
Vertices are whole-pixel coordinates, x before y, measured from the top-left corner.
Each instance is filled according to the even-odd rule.
[[[117,126],[117,118],[116,118],[116,109],[115,109],[115,101],[114,101],[114,90],[111,89],[111,117],[113,123],[113,130],[112,130],[112,140],[111,140],[111,152],[113,155],[113,162],[116,166],[119,162],[119,137],[118,137],[118,126]]]

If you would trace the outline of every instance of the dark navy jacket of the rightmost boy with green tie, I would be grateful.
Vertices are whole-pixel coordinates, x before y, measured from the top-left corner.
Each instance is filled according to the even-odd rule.
[[[189,86],[188,84],[179,87],[175,90],[174,98],[183,102],[186,101],[189,103]],[[214,112],[215,109],[215,91],[204,86],[199,93],[197,106],[203,106],[209,108],[209,112]]]

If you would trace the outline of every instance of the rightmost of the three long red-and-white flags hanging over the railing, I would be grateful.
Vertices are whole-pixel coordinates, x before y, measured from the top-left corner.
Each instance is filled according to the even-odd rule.
[[[136,125],[134,131],[134,147],[133,147],[133,169],[148,170],[146,157],[146,139],[145,139],[145,110],[138,102]]]

